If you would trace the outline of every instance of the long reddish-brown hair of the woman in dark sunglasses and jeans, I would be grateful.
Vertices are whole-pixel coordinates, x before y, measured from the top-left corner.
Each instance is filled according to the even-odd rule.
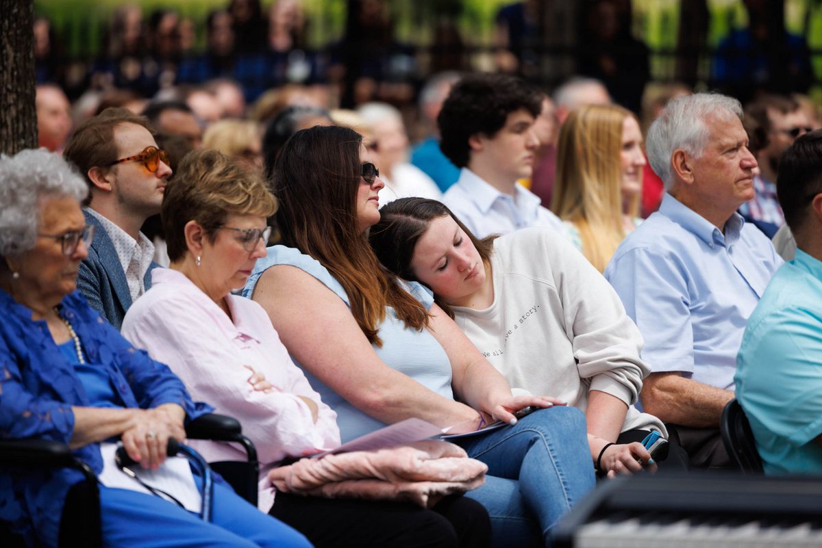
[[[276,219],[283,243],[310,255],[335,276],[349,296],[351,313],[372,344],[394,308],[407,327],[427,327],[427,310],[381,267],[358,230],[363,137],[337,126],[300,130],[284,144],[272,171],[279,200]]]

